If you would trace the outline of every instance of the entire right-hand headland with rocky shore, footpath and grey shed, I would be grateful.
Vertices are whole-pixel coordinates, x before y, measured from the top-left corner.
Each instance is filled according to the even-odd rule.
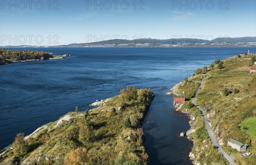
[[[186,98],[175,107],[191,119],[186,136],[194,143],[189,154],[194,164],[254,164],[255,61],[253,54],[217,59],[171,89],[171,94]],[[236,143],[239,146],[234,149]],[[241,157],[244,152],[239,151],[251,155]]]

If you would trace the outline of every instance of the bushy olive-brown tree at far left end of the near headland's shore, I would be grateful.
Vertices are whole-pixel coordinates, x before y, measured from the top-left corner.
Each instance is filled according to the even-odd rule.
[[[13,142],[13,153],[15,156],[24,156],[28,152],[28,145],[24,140],[24,133],[18,133]]]

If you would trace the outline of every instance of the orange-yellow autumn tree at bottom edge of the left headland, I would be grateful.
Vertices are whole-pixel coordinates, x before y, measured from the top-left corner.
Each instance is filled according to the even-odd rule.
[[[88,162],[90,162],[90,158],[87,155],[87,149],[82,147],[70,151],[64,157],[65,165],[82,165]]]

